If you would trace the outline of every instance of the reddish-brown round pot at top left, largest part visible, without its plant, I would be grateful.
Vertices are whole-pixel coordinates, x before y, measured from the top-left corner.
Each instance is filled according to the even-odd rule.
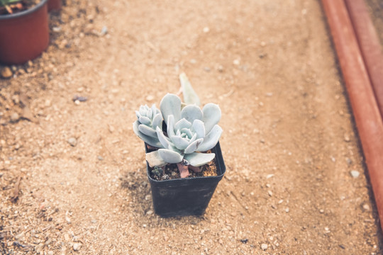
[[[48,0],[20,13],[0,15],[0,62],[23,64],[49,44]]]

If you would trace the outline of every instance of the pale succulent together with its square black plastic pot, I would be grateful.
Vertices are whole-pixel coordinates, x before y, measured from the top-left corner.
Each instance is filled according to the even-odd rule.
[[[199,108],[184,74],[180,81],[185,103],[167,94],[160,109],[140,106],[133,123],[145,142],[154,209],[164,217],[202,215],[226,171],[218,142],[221,109],[214,103]]]

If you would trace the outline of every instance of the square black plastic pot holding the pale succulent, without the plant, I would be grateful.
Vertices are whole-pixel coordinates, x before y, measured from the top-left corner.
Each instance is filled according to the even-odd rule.
[[[150,177],[150,168],[147,164],[153,206],[157,215],[172,217],[204,214],[218,182],[226,171],[219,142],[213,147],[212,152],[216,154],[218,176],[157,181]]]

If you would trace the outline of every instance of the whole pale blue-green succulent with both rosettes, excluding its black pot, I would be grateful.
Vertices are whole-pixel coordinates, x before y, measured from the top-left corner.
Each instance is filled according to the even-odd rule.
[[[138,120],[133,123],[133,130],[138,137],[152,147],[157,147],[146,154],[148,164],[158,169],[166,164],[177,164],[180,176],[189,176],[189,169],[201,171],[203,166],[214,159],[215,154],[204,153],[216,146],[222,134],[217,125],[221,120],[221,109],[214,103],[199,108],[196,96],[185,74],[179,76],[184,90],[186,106],[174,94],[162,98],[160,110],[141,106],[136,111]],[[163,119],[162,119],[163,118]],[[166,130],[162,130],[162,120]],[[160,171],[156,171],[160,172]]]

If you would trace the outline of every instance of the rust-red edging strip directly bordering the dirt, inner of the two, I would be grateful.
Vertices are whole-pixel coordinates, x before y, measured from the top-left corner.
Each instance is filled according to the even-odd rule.
[[[352,0],[355,1],[355,0]],[[322,0],[383,229],[383,120],[344,0]]]

